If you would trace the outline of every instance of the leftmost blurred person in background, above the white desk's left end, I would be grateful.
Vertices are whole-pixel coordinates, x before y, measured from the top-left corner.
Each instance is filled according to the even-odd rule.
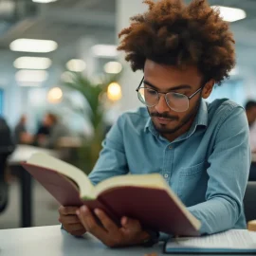
[[[27,133],[27,117],[22,115],[18,123],[14,128],[14,141],[16,144],[31,144],[33,142],[33,136]]]

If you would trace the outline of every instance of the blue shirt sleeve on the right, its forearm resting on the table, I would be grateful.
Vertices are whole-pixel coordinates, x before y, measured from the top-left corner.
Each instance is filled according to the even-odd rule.
[[[201,221],[201,234],[234,229],[244,214],[243,198],[250,166],[247,117],[242,107],[236,107],[220,119],[223,121],[208,159],[206,202],[188,208]]]

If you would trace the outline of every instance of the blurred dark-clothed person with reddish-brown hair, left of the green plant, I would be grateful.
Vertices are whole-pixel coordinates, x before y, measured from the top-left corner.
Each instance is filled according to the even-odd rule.
[[[47,113],[36,134],[36,145],[49,149],[56,148],[61,137],[69,136],[69,130],[54,114]]]

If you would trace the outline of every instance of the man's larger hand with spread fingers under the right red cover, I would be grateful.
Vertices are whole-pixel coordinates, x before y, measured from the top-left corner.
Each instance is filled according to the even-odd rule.
[[[149,238],[149,234],[141,229],[137,220],[123,217],[119,228],[102,210],[96,209],[94,212],[100,219],[102,227],[87,207],[82,206],[77,210],[84,229],[100,239],[107,247],[135,246]]]

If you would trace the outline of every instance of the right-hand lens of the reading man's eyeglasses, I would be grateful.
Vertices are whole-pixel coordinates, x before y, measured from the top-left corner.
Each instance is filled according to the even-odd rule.
[[[185,112],[189,109],[189,99],[184,94],[168,93],[166,101],[169,107],[176,112]]]

